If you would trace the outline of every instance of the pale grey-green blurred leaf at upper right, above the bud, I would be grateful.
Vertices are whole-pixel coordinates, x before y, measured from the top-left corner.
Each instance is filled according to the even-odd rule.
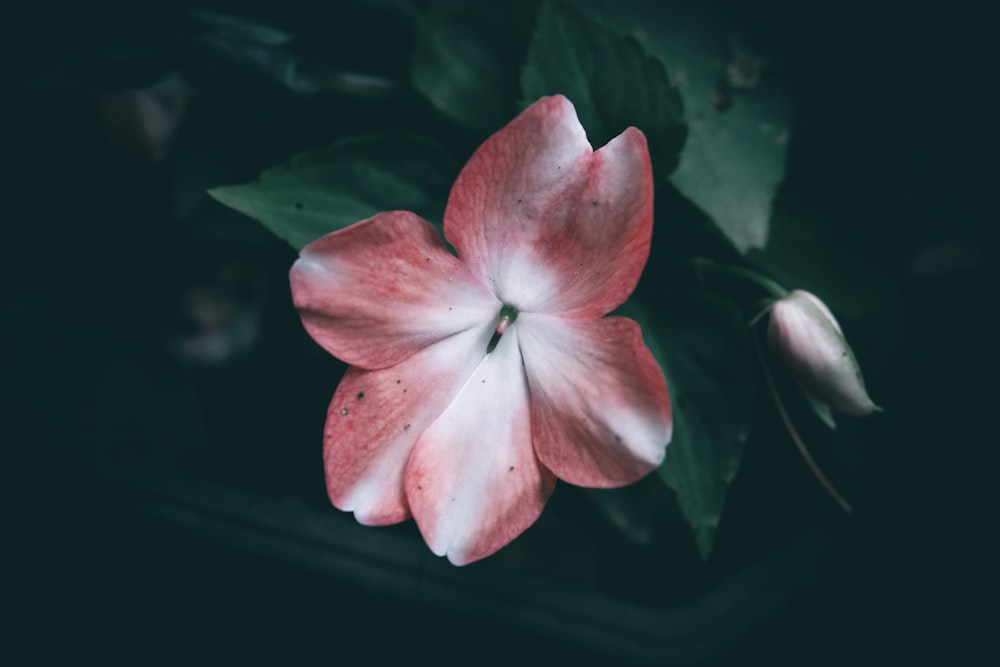
[[[771,201],[784,178],[791,123],[788,97],[767,63],[739,46],[739,35],[698,3],[582,0],[581,6],[635,35],[681,91],[690,134],[671,176],[674,184],[740,251],[763,247]],[[761,68],[760,82],[750,89],[724,83],[727,66],[737,58]],[[720,94],[731,107],[717,108]]]

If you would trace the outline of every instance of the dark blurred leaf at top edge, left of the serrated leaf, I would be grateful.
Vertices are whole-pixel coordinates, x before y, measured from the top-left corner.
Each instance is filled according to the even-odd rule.
[[[537,2],[432,0],[421,22],[410,79],[440,111],[474,130],[509,121]]]

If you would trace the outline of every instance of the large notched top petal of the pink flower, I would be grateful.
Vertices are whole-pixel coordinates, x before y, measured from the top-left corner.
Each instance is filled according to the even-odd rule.
[[[445,236],[521,312],[600,317],[635,289],[649,255],[653,178],[628,128],[596,153],[565,97],[528,107],[473,154]]]

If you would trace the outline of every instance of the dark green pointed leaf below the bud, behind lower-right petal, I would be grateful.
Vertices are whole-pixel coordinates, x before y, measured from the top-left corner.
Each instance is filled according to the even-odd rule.
[[[707,558],[750,430],[749,327],[730,302],[701,289],[656,294],[647,285],[621,312],[642,325],[666,375],[674,433],[657,472]]]

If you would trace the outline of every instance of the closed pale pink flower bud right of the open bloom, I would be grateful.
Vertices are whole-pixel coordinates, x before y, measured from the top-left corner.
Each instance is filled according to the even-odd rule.
[[[795,290],[774,303],[767,338],[812,398],[859,417],[879,409],[868,398],[861,369],[840,325],[809,292]]]

